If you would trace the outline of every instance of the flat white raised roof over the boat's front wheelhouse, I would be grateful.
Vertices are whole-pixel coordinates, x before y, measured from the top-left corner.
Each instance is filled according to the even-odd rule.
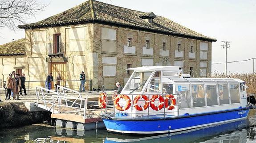
[[[167,70],[167,71],[181,71],[180,66],[142,66],[136,68],[129,68],[126,70]]]

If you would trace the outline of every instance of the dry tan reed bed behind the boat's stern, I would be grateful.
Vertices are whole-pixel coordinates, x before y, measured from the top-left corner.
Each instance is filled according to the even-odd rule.
[[[207,77],[211,78],[226,78],[225,73],[213,72],[207,74]],[[252,73],[229,73],[227,78],[239,78],[245,81],[246,85],[249,87],[247,93],[256,93],[256,74]]]

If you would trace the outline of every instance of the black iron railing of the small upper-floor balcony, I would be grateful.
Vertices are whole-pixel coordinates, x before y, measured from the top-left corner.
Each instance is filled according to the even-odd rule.
[[[48,43],[49,57],[63,57],[65,52],[64,43]]]

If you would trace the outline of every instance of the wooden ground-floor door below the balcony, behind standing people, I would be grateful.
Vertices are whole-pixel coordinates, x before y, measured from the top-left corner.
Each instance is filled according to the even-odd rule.
[[[61,86],[65,86],[66,79],[66,63],[52,63],[51,73],[53,73],[54,84],[52,84],[52,89],[55,88],[56,77],[58,73],[61,73]]]

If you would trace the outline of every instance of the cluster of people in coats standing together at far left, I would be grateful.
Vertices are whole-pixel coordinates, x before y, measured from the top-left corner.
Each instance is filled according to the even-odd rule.
[[[22,76],[20,76],[20,74],[16,73],[15,71],[10,73],[6,79],[5,84],[5,89],[7,89],[5,100],[20,100],[19,95],[22,95],[21,89],[24,90],[24,95],[27,95],[25,81],[26,77],[24,73]],[[11,99],[12,93],[13,99]]]

